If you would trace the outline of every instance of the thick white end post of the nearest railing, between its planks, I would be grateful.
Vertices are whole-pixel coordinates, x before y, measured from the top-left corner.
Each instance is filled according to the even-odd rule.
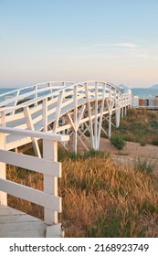
[[[43,140],[43,158],[58,162],[58,142]],[[44,175],[44,192],[58,196],[58,177]],[[57,224],[58,212],[44,208],[44,221],[49,225]]]

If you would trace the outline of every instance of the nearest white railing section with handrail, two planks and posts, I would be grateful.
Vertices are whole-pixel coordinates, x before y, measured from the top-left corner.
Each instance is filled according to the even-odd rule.
[[[43,141],[43,158],[22,155],[5,150],[5,134],[29,136]],[[58,197],[58,177],[61,177],[61,164],[58,163],[58,142],[68,141],[68,135],[40,133],[0,126],[0,204],[7,205],[7,194],[26,199],[44,207],[44,222],[58,225],[58,212],[61,212],[61,198]],[[6,165],[16,165],[43,174],[44,190],[39,191],[6,179]],[[58,226],[59,227],[59,226]],[[56,234],[59,236],[59,228]]]

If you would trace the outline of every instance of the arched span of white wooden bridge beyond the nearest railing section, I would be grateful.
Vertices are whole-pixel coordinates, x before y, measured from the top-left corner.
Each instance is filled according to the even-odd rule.
[[[73,137],[73,151],[77,153],[78,141],[85,150],[99,150],[100,133],[110,138],[111,125],[119,127],[121,116],[131,106],[132,93],[121,93],[107,81],[47,81],[2,94],[0,118],[1,125],[8,127],[68,134]],[[107,131],[103,121],[108,122]],[[12,149],[29,143],[30,138],[8,135],[6,142]],[[37,141],[32,143],[40,156]]]

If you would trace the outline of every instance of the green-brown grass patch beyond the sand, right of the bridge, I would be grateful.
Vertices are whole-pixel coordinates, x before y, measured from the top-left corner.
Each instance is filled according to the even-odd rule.
[[[121,119],[120,127],[117,130],[113,128],[112,133],[120,134],[128,142],[158,145],[158,112],[128,110],[128,114]]]

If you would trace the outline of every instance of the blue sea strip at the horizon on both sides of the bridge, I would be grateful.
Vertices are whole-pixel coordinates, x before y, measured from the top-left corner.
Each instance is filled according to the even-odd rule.
[[[9,91],[14,91],[19,88],[0,88],[0,96]],[[148,98],[154,98],[155,96],[158,96],[158,89],[152,89],[152,88],[132,88],[132,95],[138,96],[142,99],[148,99]]]

